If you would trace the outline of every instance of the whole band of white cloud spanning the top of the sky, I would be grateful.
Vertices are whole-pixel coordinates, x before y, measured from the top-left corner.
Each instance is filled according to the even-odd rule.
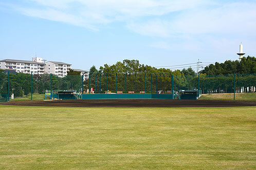
[[[145,36],[183,38],[190,34],[256,35],[256,3],[213,4],[209,0],[23,0],[16,9],[44,19],[97,30],[122,22]],[[215,1],[216,2],[216,1]]]

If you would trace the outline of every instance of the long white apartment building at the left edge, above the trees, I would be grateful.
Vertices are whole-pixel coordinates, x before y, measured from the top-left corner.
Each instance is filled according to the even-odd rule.
[[[32,61],[5,59],[0,60],[0,69],[16,71],[18,73],[44,74],[45,63],[43,58],[38,57],[32,58]]]

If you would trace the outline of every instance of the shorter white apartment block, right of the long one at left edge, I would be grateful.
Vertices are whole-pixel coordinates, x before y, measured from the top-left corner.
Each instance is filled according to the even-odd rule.
[[[69,69],[71,69],[71,65],[69,63],[48,61],[45,64],[45,73],[54,74],[58,77],[65,77]]]

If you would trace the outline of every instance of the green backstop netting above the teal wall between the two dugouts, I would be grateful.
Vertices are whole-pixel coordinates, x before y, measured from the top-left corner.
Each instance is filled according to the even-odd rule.
[[[171,93],[170,73],[92,73],[84,88],[94,93]]]

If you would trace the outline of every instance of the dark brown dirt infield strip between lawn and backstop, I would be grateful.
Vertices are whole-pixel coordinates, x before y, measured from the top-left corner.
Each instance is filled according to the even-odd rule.
[[[249,107],[256,106],[256,101],[229,100],[170,100],[170,99],[87,99],[54,101],[10,101],[2,105],[22,105],[38,107]]]

